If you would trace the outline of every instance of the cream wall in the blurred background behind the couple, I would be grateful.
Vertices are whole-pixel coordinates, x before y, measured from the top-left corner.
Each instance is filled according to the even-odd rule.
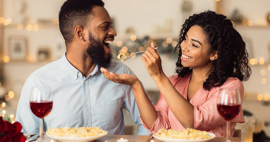
[[[15,18],[16,12],[18,14],[20,2],[25,2],[23,12],[19,12],[30,24],[36,23],[40,19],[57,19],[58,12],[64,0],[4,0],[4,17]],[[214,10],[216,2],[214,0],[203,0],[196,1],[192,0],[193,6],[190,12],[183,12],[181,10],[181,4],[183,0],[104,0],[105,8],[109,12],[110,16],[114,19],[114,28],[117,30],[118,36],[115,41],[123,40],[128,38],[126,29],[132,27],[135,30],[135,34],[138,36],[155,35],[163,38],[166,37],[178,37],[180,25],[183,20],[191,15],[192,13],[198,13],[204,10]],[[265,16],[268,12],[267,6],[270,1],[252,1],[252,0],[221,0],[221,11],[224,11],[228,17],[235,8],[239,8],[244,16],[248,20],[252,20],[254,24],[261,25],[265,23]],[[4,28],[4,55],[8,55],[8,39],[13,36],[23,35],[27,37],[27,48],[28,55],[36,57],[36,51],[40,46],[48,46],[52,50],[53,60],[57,59],[62,55],[63,51],[57,51],[56,47],[59,43],[63,44],[63,40],[60,31],[57,26],[43,26],[38,31],[26,31],[16,29],[16,20],[12,26],[5,26]],[[18,20],[17,20],[18,21]],[[269,37],[269,26],[263,27],[241,27],[237,29],[242,34],[243,38],[249,39],[253,48],[254,58],[264,57],[265,60],[269,60],[268,48],[270,45]],[[60,52],[60,53],[58,53]],[[167,76],[174,75],[175,73],[175,62],[176,59],[168,59],[162,56],[163,69]],[[134,73],[142,81],[146,89],[157,89],[155,83],[148,76],[145,67],[137,56],[135,59],[125,61]],[[7,88],[9,90],[18,89],[14,87],[14,82],[23,82],[33,72],[36,67],[42,66],[41,63],[24,63],[18,65],[17,62],[9,62],[4,64],[4,71],[6,79],[9,84]],[[261,83],[262,76],[260,75],[260,65],[252,66],[253,74],[249,81],[244,82],[247,92],[256,93],[268,93],[270,90],[267,86],[270,83],[269,71],[267,71],[267,65],[263,68],[267,71],[264,76],[269,81],[266,84]],[[10,69],[18,68],[20,74],[10,72]],[[19,79],[19,81],[17,81]],[[16,85],[18,86],[18,85]],[[16,92],[19,92],[17,90]],[[270,94],[270,93],[269,93]]]

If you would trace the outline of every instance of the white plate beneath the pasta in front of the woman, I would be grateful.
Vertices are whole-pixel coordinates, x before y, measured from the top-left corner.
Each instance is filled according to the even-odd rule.
[[[210,139],[213,139],[214,137],[216,137],[215,134],[213,133],[209,133],[207,132],[211,138],[208,138],[208,139],[175,139],[175,138],[164,138],[164,137],[159,137],[159,136],[156,136],[155,134],[153,134],[153,137],[161,140],[161,141],[166,141],[166,142],[204,142],[204,141],[208,141]]]

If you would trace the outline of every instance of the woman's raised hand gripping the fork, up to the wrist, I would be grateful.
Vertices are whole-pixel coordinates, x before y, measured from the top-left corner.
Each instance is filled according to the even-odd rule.
[[[147,48],[141,59],[146,67],[148,74],[152,78],[160,77],[164,74],[162,70],[160,55],[158,54],[153,44],[151,44],[151,47]]]

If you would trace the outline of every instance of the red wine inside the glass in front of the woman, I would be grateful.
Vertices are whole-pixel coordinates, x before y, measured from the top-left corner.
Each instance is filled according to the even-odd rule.
[[[240,112],[240,104],[224,105],[217,104],[218,113],[227,121],[237,117]]]

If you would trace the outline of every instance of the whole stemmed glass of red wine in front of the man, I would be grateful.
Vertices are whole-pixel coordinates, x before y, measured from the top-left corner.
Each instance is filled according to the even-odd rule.
[[[53,108],[53,96],[48,86],[32,87],[30,92],[30,109],[32,113],[40,118],[40,137],[38,141],[43,140],[43,118],[50,114]]]

